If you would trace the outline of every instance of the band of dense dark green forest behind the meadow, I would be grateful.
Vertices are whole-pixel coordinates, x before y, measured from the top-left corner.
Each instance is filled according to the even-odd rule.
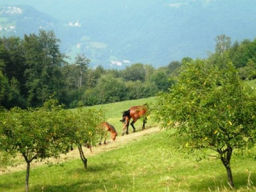
[[[170,61],[166,67],[131,64],[124,70],[90,67],[90,58],[77,55],[74,63],[60,51],[53,31],[23,38],[0,38],[0,105],[4,108],[39,107],[49,98],[67,108],[139,99],[165,92],[175,83],[180,67],[191,61]],[[226,35],[216,37],[209,64],[232,61],[242,79],[256,76],[256,39],[231,43]]]

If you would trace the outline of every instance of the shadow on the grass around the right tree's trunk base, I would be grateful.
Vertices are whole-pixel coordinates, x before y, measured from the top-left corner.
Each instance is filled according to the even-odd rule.
[[[249,178],[249,179],[248,179]],[[239,191],[247,189],[248,181],[249,188],[251,190],[256,189],[256,175],[250,175],[248,173],[233,173],[233,181],[235,187]],[[218,177],[213,175],[201,180],[198,180],[196,183],[191,183],[191,191],[233,191],[230,189],[229,184],[227,183],[227,174],[221,174]]]

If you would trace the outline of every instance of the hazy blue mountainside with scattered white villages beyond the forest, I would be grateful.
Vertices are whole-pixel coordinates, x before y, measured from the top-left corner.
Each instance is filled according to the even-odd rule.
[[[214,52],[217,35],[226,34],[232,41],[253,40],[256,31],[255,0],[0,2],[20,4],[38,10],[33,11],[34,19],[0,12],[0,25],[12,23],[16,31],[1,35],[53,29],[61,39],[62,52],[72,56],[84,53],[93,65],[106,68],[124,68],[136,62],[158,67],[183,57],[204,58],[208,51]]]

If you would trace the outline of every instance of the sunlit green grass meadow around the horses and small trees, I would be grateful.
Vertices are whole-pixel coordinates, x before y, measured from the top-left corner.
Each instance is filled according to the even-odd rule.
[[[105,119],[122,136],[121,112],[132,105],[153,105],[155,97],[94,106],[106,109]],[[141,131],[142,121],[135,124]],[[157,126],[148,119],[146,130]],[[132,133],[131,128],[129,132]],[[142,131],[141,131],[142,132]],[[81,160],[69,160],[53,166],[31,169],[29,187],[35,192],[169,192],[169,191],[230,191],[227,174],[220,160],[197,161],[194,155],[177,150],[186,138],[172,137],[174,130],[145,134],[119,148],[88,157],[88,169]],[[75,149],[77,150],[77,149]],[[256,150],[253,151],[256,153]],[[231,160],[237,191],[256,191],[256,166],[253,157],[239,154]],[[0,175],[0,191],[24,190],[25,170]]]

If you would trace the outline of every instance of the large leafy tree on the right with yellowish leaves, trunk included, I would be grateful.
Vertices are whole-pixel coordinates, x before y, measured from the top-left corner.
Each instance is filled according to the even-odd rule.
[[[256,94],[229,62],[221,70],[196,60],[182,67],[169,93],[158,97],[157,120],[163,128],[177,127],[188,137],[184,148],[211,149],[227,171],[234,188],[230,159],[234,150],[256,143]]]

